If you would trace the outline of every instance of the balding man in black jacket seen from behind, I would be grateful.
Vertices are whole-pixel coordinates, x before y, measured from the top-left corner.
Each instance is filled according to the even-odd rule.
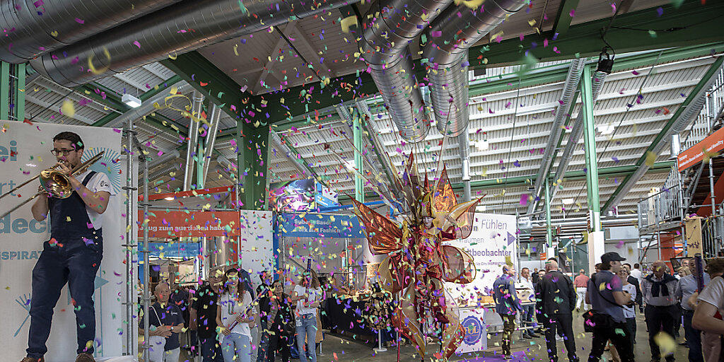
[[[558,271],[557,261],[548,261],[546,274],[536,285],[536,311],[538,320],[545,329],[548,357],[551,362],[558,361],[555,345],[556,328],[563,332],[565,350],[568,359],[577,362],[576,342],[573,340],[573,308],[576,308],[576,290],[571,279]]]

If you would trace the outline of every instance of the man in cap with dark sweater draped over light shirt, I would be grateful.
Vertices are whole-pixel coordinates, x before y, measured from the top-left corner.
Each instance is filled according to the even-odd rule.
[[[641,282],[641,293],[646,304],[644,316],[646,316],[646,327],[649,329],[649,347],[653,362],[659,361],[662,357],[654,336],[664,332],[673,338],[674,319],[678,316],[677,295],[681,295],[681,285],[678,279],[666,273],[666,264],[663,261],[654,261],[652,269],[654,272]],[[666,361],[674,361],[673,354],[665,357]]]

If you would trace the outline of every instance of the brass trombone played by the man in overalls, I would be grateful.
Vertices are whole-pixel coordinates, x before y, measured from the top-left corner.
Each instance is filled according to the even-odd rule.
[[[70,174],[75,175],[79,174],[81,172],[85,172],[85,170],[90,167],[90,165],[95,164],[101,157],[103,156],[103,153],[106,151],[101,151],[100,153],[96,154],[96,156],[91,157],[88,161],[83,162],[83,164],[78,165],[75,169],[73,169]],[[28,185],[30,182],[33,182],[33,180],[40,178],[41,180],[41,187],[43,188],[42,191],[38,191],[38,193],[35,193],[35,195],[31,196],[30,198],[27,198],[25,201],[22,201],[22,203],[18,204],[14,208],[10,209],[9,211],[5,212],[0,216],[0,219],[7,216],[7,214],[10,214],[12,211],[15,211],[17,209],[20,209],[21,206],[25,205],[26,203],[29,203],[34,198],[38,197],[38,195],[41,195],[43,193],[49,193],[55,198],[70,198],[70,195],[73,194],[73,188],[70,185],[70,179],[67,177],[66,174],[63,174],[62,172],[59,172],[54,167],[51,167],[49,169],[43,169],[41,173],[39,173],[37,176],[31,178],[28,181],[22,182],[22,184],[17,185],[12,190],[9,190],[7,193],[4,193],[0,195],[0,198],[4,198],[7,195],[10,195],[15,190],[18,190],[22,188],[25,185]]]

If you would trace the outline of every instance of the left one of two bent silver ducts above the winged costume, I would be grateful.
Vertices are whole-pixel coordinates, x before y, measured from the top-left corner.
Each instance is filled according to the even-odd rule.
[[[452,0],[389,0],[374,4],[358,45],[387,105],[392,122],[405,140],[423,140],[430,130],[408,43]]]

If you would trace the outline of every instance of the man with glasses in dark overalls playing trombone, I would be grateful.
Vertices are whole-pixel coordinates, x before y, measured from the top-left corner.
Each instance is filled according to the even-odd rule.
[[[67,175],[71,194],[68,198],[58,198],[52,193],[43,193],[31,209],[38,221],[50,213],[51,239],[43,243],[43,253],[33,268],[28,356],[21,362],[44,361],[53,308],[66,283],[74,300],[78,343],[75,361],[94,362],[93,292],[103,258],[102,216],[111,196],[111,182],[103,172],[90,171],[87,167],[75,170],[81,164],[84,146],[80,136],[73,132],[61,132],[53,138],[51,152],[58,161],[56,169]]]

